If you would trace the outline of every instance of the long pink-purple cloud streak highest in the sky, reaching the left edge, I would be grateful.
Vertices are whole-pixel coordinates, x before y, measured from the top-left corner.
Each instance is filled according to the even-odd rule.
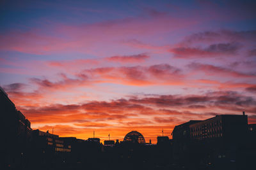
[[[120,41],[131,37],[152,36],[193,24],[195,21],[164,15],[124,18],[78,26],[58,25],[51,29],[51,34],[44,32],[44,29],[31,29],[26,32],[12,30],[1,36],[0,50],[35,54],[81,52],[103,55],[104,52],[106,55],[113,46],[120,46],[116,41],[118,39]]]

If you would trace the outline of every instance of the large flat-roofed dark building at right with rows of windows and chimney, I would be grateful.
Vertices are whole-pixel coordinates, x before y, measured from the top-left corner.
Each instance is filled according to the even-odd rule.
[[[173,129],[174,158],[187,166],[238,166],[248,132],[247,115],[217,115],[203,121],[189,121]],[[234,163],[236,162],[236,163]]]

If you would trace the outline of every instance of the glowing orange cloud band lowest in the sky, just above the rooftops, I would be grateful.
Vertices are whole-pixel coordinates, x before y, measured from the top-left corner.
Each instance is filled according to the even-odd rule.
[[[188,120],[204,120],[223,113],[241,114],[241,111],[246,111],[249,121],[253,122],[255,104],[255,99],[250,96],[216,91],[202,95],[133,96],[108,102],[31,106],[21,108],[21,111],[33,127],[42,130],[54,127],[60,136],[89,138],[94,129],[99,131],[102,139],[106,139],[109,133],[115,139],[122,139],[125,132],[137,130],[147,140],[156,141],[162,128],[171,131],[175,125]],[[42,124],[52,125],[42,127]]]

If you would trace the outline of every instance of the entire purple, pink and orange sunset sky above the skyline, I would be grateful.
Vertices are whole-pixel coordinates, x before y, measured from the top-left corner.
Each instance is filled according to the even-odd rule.
[[[0,86],[33,129],[149,142],[256,123],[255,1],[1,1]]]

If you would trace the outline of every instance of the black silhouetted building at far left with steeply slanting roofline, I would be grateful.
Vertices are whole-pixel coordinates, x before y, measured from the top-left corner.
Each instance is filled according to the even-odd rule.
[[[23,167],[29,155],[32,129],[30,122],[17,111],[8,95],[0,87],[0,125],[3,131],[0,140],[0,161],[4,167]]]

